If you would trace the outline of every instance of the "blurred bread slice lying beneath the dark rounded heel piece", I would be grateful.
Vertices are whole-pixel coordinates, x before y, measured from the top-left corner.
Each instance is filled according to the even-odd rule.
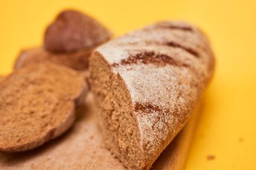
[[[49,52],[44,47],[35,47],[23,50],[16,60],[14,69],[22,69],[31,64],[52,62],[72,69],[87,69],[88,57],[93,49],[78,50],[75,52]]]

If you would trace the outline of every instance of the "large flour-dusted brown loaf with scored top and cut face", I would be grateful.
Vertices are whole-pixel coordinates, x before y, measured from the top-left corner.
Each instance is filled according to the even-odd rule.
[[[149,169],[191,117],[213,75],[203,33],[163,22],[98,47],[90,87],[110,151],[128,169]]]

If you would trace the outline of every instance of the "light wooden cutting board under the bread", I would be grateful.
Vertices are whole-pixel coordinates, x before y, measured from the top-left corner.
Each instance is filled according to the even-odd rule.
[[[0,169],[125,169],[105,149],[95,118],[92,94],[77,111],[78,119],[64,135],[28,152],[0,153]],[[196,111],[198,112],[198,111]],[[198,114],[188,122],[151,169],[183,169]]]

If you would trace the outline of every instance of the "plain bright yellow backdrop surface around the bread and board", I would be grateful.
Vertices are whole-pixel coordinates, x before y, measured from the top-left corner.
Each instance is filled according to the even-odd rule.
[[[186,169],[256,169],[256,1],[1,0],[0,74],[11,72],[22,48],[42,44],[65,8],[89,13],[115,35],[167,19],[200,26],[217,65]]]

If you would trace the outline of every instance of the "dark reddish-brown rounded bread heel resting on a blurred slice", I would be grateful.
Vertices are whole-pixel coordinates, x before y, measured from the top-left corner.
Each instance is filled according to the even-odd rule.
[[[90,16],[67,10],[48,26],[44,40],[46,50],[70,52],[96,47],[110,40],[111,35],[107,28]]]

